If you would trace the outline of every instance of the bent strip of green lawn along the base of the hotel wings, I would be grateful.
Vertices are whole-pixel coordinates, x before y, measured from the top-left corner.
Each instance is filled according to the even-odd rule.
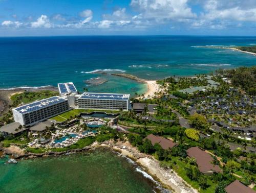
[[[92,110],[92,109],[72,109],[70,111],[67,111],[65,113],[62,113],[60,115],[54,116],[50,119],[56,120],[56,122],[63,122],[70,118],[71,116],[74,117],[76,115],[79,115],[80,113],[90,113],[90,112],[106,112],[106,113],[118,113],[119,111],[108,111],[108,110]]]

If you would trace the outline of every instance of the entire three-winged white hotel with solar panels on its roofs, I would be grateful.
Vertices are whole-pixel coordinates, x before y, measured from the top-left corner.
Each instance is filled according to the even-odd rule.
[[[77,94],[73,83],[58,84],[60,96],[53,96],[12,109],[15,122],[33,126],[72,108],[95,110],[129,110],[130,94],[93,93]]]

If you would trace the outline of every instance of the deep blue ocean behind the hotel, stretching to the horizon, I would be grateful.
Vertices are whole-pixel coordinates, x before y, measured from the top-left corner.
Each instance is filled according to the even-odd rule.
[[[0,88],[74,82],[78,90],[143,93],[146,85],[109,75],[156,80],[256,64],[256,56],[206,45],[252,45],[256,37],[69,36],[0,38]],[[97,71],[106,74],[94,74]],[[84,80],[103,77],[101,85]]]

